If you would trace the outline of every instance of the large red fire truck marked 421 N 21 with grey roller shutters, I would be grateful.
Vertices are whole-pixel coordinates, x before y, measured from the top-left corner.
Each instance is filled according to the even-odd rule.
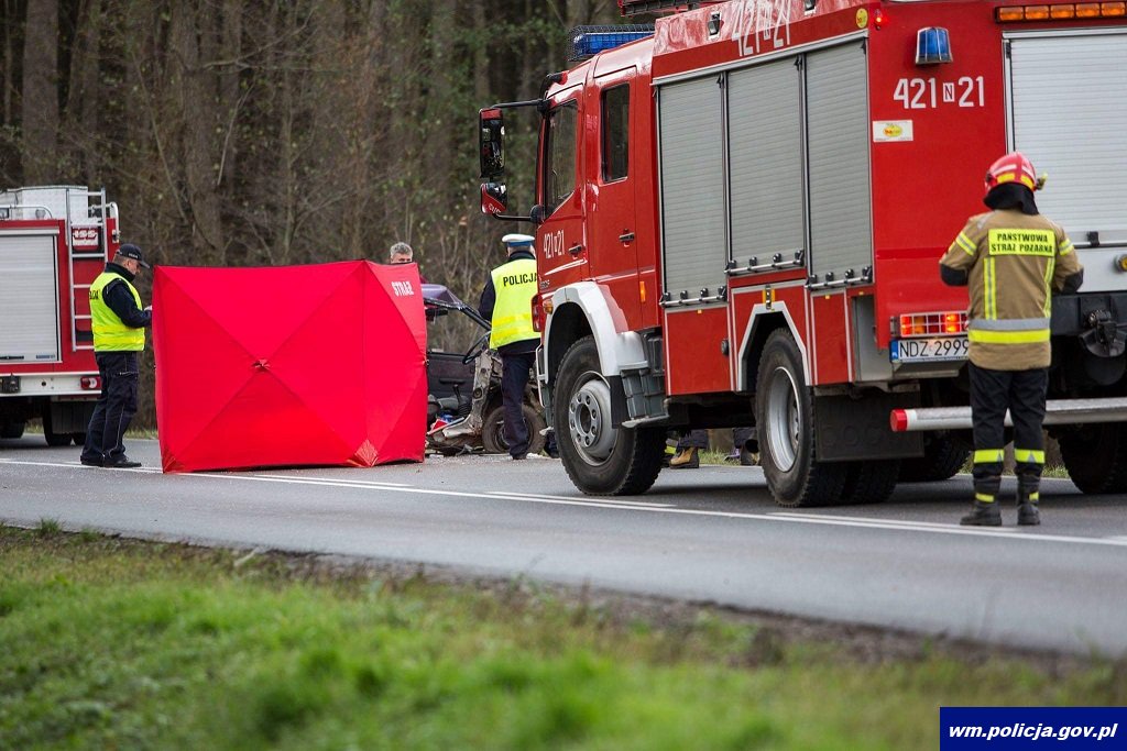
[[[669,12],[577,30],[583,62],[479,122],[482,211],[536,226],[538,378],[579,489],[644,492],[668,429],[743,424],[782,506],[955,474],[967,296],[938,260],[1020,149],[1086,268],[1054,302],[1046,424],[1082,490],[1127,491],[1124,2],[619,5]],[[514,107],[540,114],[526,216]]]

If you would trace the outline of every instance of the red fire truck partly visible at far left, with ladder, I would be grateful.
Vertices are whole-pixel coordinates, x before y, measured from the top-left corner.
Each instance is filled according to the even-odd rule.
[[[85,440],[101,390],[88,289],[117,245],[105,190],[0,191],[0,438],[39,418],[51,446]]]

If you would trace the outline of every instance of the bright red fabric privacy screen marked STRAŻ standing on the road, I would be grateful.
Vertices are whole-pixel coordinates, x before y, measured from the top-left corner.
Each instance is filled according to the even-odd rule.
[[[414,265],[162,266],[153,349],[165,472],[423,461]]]

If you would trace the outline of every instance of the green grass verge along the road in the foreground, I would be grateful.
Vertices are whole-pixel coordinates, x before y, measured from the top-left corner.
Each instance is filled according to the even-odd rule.
[[[940,705],[1122,705],[1124,664],[0,527],[0,748],[919,749]],[[908,640],[911,642],[911,640]]]

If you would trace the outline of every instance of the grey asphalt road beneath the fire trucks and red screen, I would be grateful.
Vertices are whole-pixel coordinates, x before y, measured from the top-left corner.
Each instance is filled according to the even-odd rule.
[[[1127,654],[1127,498],[1046,480],[1044,524],[957,525],[969,477],[886,503],[787,511],[757,467],[665,471],[647,494],[582,495],[559,462],[429,458],[372,470],[165,475],[0,440],[0,520],[142,538],[452,566],[914,632]],[[1013,492],[1008,479],[1003,493]]]

